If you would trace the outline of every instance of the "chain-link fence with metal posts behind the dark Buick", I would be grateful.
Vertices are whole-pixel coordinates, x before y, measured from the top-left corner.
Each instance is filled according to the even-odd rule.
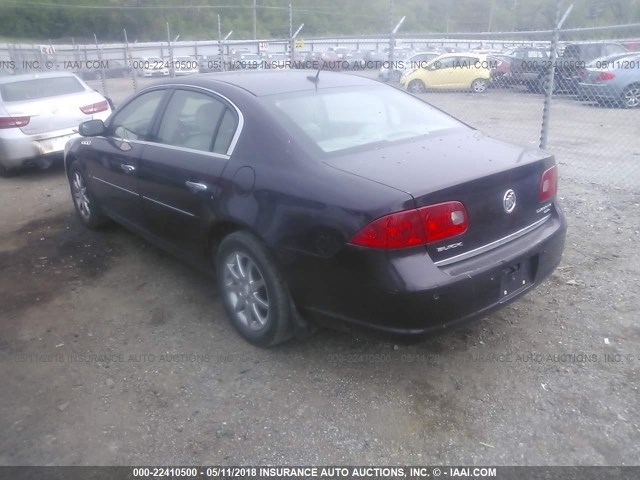
[[[0,67],[73,71],[116,106],[159,77],[247,68],[346,71],[406,89],[498,139],[542,144],[575,180],[637,188],[640,24],[556,33],[557,44],[552,30],[305,41],[96,39],[0,45]]]

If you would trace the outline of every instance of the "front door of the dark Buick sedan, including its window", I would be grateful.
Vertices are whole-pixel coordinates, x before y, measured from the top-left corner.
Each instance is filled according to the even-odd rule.
[[[138,162],[166,93],[158,89],[135,97],[109,119],[104,136],[83,140],[91,145],[83,159],[93,194],[104,209],[134,223],[141,214]]]

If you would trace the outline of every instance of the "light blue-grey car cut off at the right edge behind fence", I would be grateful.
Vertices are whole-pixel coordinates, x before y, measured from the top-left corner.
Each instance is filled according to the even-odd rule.
[[[609,57],[600,62],[600,68],[586,68],[578,93],[582,99],[601,104],[639,108],[640,54],[636,52],[615,59]]]

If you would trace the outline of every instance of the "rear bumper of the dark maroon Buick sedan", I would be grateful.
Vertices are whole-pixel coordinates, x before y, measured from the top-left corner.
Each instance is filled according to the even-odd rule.
[[[557,213],[506,245],[440,268],[423,249],[398,255],[348,247],[335,262],[308,261],[306,272],[316,275],[306,285],[295,274],[289,284],[303,316],[316,323],[424,335],[481,318],[535,288],[560,263],[565,235]],[[515,265],[526,267],[525,284],[505,295],[503,271]]]

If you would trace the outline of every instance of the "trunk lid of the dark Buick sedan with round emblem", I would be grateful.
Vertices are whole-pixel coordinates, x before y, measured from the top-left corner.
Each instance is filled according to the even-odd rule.
[[[542,174],[555,164],[554,158],[537,148],[507,144],[476,131],[458,130],[373,152],[336,156],[326,163],[404,191],[414,198],[416,207],[462,202],[469,227],[461,235],[427,245],[436,262],[497,244],[541,223],[553,209],[552,199],[539,201],[539,189]]]

